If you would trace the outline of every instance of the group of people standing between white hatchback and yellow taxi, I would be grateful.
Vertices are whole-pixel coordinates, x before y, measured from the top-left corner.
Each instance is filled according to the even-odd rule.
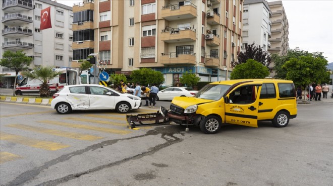
[[[121,91],[123,93],[129,93],[128,88],[132,88],[134,90],[131,93],[133,93],[134,96],[137,96],[139,98],[141,97],[141,90],[142,90],[142,94],[146,94],[146,97],[145,97],[146,105],[145,106],[148,106],[149,108],[155,108],[156,97],[157,97],[157,93],[159,91],[156,84],[153,84],[150,88],[146,87],[146,86],[140,86],[140,82],[136,82],[135,85],[134,85],[134,83],[132,83],[132,85],[131,85],[130,83],[125,84],[124,81],[121,80],[120,84],[121,84]]]

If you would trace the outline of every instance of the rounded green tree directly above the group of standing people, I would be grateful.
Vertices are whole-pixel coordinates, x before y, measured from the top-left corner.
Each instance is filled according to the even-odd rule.
[[[159,71],[154,71],[151,68],[141,68],[139,70],[133,70],[131,78],[134,82],[140,82],[141,85],[148,84],[162,84],[164,82],[163,74]]]

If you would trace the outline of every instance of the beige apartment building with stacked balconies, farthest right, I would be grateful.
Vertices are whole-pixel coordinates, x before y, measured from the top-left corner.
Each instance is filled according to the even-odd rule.
[[[272,17],[270,18],[272,36],[268,39],[271,47],[268,52],[277,53],[281,56],[287,55],[289,48],[289,23],[282,1],[269,2],[268,6],[272,12]]]

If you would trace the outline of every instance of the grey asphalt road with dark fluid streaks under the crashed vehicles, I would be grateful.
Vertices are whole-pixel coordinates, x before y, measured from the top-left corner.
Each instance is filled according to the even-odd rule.
[[[179,125],[132,130],[112,111],[0,103],[0,183],[332,185],[332,107],[329,99],[298,105],[286,128],[261,122],[206,135]]]

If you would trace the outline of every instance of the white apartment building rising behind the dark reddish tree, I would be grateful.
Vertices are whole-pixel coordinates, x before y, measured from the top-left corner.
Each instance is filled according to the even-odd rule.
[[[269,21],[271,16],[268,3],[265,0],[246,0],[244,2],[243,52],[247,45],[253,42],[255,45],[260,45],[264,51],[270,48],[268,40],[271,37],[271,22]]]

